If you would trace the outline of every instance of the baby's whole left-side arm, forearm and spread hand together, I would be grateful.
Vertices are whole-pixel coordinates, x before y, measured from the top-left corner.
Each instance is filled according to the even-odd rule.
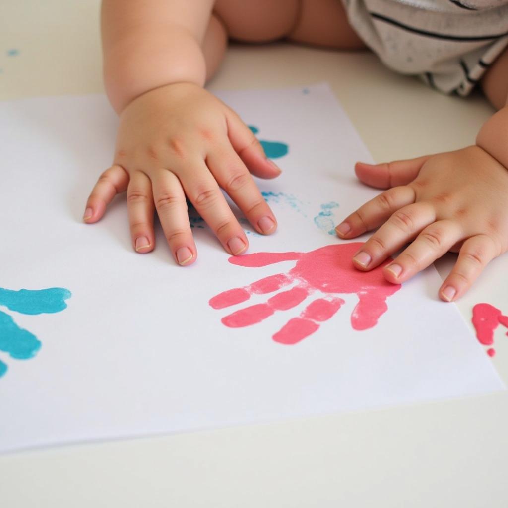
[[[102,10],[105,83],[120,125],[113,165],[94,186],[84,220],[99,220],[127,190],[133,247],[153,249],[156,209],[180,265],[197,256],[186,198],[232,254],[247,240],[221,188],[257,231],[276,228],[249,171],[272,178],[280,170],[238,115],[202,88],[207,60],[217,60],[202,44],[220,50],[224,42],[213,40],[212,7],[208,0],[106,0]]]

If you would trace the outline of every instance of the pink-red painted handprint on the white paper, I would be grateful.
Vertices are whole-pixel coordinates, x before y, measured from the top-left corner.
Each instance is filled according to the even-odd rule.
[[[244,302],[253,294],[267,294],[296,282],[287,291],[281,291],[266,303],[250,305],[223,317],[222,323],[231,328],[254,325],[267,319],[276,310],[288,310],[303,302],[314,291],[327,296],[317,298],[290,319],[275,335],[273,340],[282,344],[295,344],[319,329],[319,323],[329,320],[344,303],[339,294],[356,293],[359,302],[351,314],[351,325],[355,330],[366,330],[376,325],[387,309],[386,299],[400,289],[400,284],[391,284],[382,274],[382,268],[391,259],[369,272],[357,270],[352,263],[353,255],[362,243],[327,245],[310,252],[258,252],[245,256],[231,257],[233,265],[258,268],[282,261],[296,261],[288,273],[279,273],[260,279],[244,288],[235,288],[214,296],[210,305],[222,309]]]

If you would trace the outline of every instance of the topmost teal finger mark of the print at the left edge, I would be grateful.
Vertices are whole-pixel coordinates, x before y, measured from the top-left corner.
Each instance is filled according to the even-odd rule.
[[[0,288],[0,305],[22,314],[51,314],[67,308],[71,292],[65,288],[13,291]]]

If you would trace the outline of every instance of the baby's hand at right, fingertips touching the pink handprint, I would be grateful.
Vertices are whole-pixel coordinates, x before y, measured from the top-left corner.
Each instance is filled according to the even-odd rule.
[[[506,251],[508,170],[479,146],[375,166],[358,163],[355,170],[364,183],[389,188],[336,228],[340,237],[354,238],[381,226],[354,257],[360,270],[412,242],[384,268],[385,278],[398,283],[448,250],[458,251],[439,290],[452,301]]]

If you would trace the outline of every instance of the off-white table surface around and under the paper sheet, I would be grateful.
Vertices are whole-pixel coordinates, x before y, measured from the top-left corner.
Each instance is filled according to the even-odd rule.
[[[322,81],[379,162],[471,144],[492,114],[479,95],[442,96],[368,52],[288,44],[232,47],[210,87]],[[102,91],[99,0],[2,0],[0,99]],[[440,261],[440,273],[452,262],[451,255]],[[458,303],[468,322],[474,303],[508,309],[496,262]],[[496,337],[492,361],[506,383],[508,339]],[[0,418],[8,418],[1,408]],[[507,424],[503,392],[4,455],[0,506],[505,508]]]

